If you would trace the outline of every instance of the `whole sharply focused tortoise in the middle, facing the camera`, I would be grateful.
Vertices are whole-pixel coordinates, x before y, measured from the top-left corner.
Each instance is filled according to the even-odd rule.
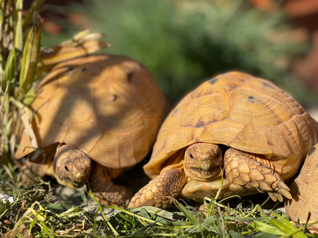
[[[186,199],[267,192],[291,198],[285,184],[317,142],[318,123],[264,79],[230,72],[200,85],[170,112],[150,161],[152,178],[129,207],[165,208]],[[223,156],[224,155],[224,156]]]

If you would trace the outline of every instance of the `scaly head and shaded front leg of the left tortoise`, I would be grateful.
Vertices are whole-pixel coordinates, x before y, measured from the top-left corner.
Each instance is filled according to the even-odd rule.
[[[68,145],[59,145],[54,158],[57,181],[70,188],[80,188],[89,183],[95,198],[106,205],[127,206],[132,192],[114,184],[124,168],[109,169],[92,161],[85,153]]]

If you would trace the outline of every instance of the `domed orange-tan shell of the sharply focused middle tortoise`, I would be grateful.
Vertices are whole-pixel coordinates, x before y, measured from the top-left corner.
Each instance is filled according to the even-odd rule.
[[[265,155],[284,180],[297,172],[317,134],[317,122],[282,89],[247,74],[226,73],[200,85],[170,112],[144,170],[154,178],[180,149],[209,142]]]

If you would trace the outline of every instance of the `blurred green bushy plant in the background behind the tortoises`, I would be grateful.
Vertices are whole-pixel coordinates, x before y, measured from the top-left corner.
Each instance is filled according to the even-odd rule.
[[[69,37],[74,25],[103,32],[104,41],[112,45],[103,52],[144,64],[172,105],[207,78],[239,70],[269,79],[303,105],[313,106],[317,92],[291,70],[295,59],[309,49],[307,32],[287,23],[282,1],[251,2],[267,2],[270,7],[231,0],[83,0],[48,5],[49,26],[56,23],[59,27],[53,29],[60,34],[45,33],[42,42],[50,45]]]

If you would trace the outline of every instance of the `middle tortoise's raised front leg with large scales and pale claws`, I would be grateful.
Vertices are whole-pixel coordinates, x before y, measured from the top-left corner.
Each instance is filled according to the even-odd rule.
[[[228,149],[224,154],[225,175],[229,182],[246,188],[266,191],[273,201],[282,202],[284,195],[291,199],[290,189],[270,167],[256,161],[266,161],[265,156]]]

